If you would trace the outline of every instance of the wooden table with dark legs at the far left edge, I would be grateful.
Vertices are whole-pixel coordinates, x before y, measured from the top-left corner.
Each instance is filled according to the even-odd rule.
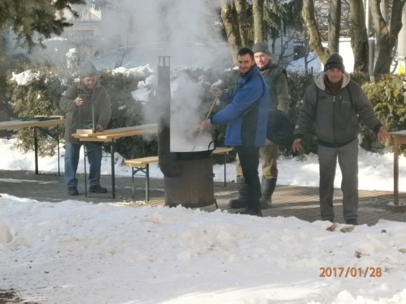
[[[46,118],[46,117],[44,117]],[[60,117],[55,117],[60,118]],[[34,128],[34,151],[35,151],[35,174],[38,175],[38,141],[37,141],[37,131],[41,130],[48,136],[52,137],[57,141],[58,145],[58,176],[60,175],[60,168],[59,168],[59,125],[64,125],[66,123],[66,119],[52,119],[52,120],[31,120],[31,121],[21,121],[21,120],[14,120],[14,121],[7,121],[7,122],[0,122],[0,130],[16,130],[22,128]],[[42,127],[50,127],[56,125],[56,136]],[[38,130],[37,130],[38,129]]]

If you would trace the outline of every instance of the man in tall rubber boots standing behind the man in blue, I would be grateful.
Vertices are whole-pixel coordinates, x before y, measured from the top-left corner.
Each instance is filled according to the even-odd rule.
[[[286,71],[270,61],[272,54],[266,42],[258,42],[252,48],[255,63],[259,67],[259,72],[269,89],[269,108],[278,109],[286,114],[289,110],[289,91],[286,79]],[[279,146],[266,139],[265,145],[259,149],[262,162],[261,193],[259,200],[261,209],[267,209],[272,202],[276,182],[278,179],[277,159],[279,156]],[[247,184],[243,176],[240,159],[236,160],[236,175],[239,188],[239,197],[230,200],[228,205],[231,208],[245,208],[247,206]]]

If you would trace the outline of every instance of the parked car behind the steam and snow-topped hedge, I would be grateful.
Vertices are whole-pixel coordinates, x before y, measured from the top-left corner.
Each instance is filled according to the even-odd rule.
[[[158,65],[158,56],[171,56],[172,68],[233,67],[228,44],[157,43],[129,46],[90,59],[96,69]]]

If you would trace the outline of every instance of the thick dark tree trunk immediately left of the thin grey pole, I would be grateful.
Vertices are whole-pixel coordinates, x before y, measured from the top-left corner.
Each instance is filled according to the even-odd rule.
[[[354,71],[368,73],[369,45],[362,0],[350,0],[351,48],[354,53]]]

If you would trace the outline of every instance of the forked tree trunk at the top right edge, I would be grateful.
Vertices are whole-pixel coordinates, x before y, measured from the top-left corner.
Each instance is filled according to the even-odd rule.
[[[402,28],[403,7],[406,0],[394,0],[390,17],[390,26],[381,14],[380,0],[371,0],[370,9],[376,31],[374,76],[390,72],[392,50]]]

